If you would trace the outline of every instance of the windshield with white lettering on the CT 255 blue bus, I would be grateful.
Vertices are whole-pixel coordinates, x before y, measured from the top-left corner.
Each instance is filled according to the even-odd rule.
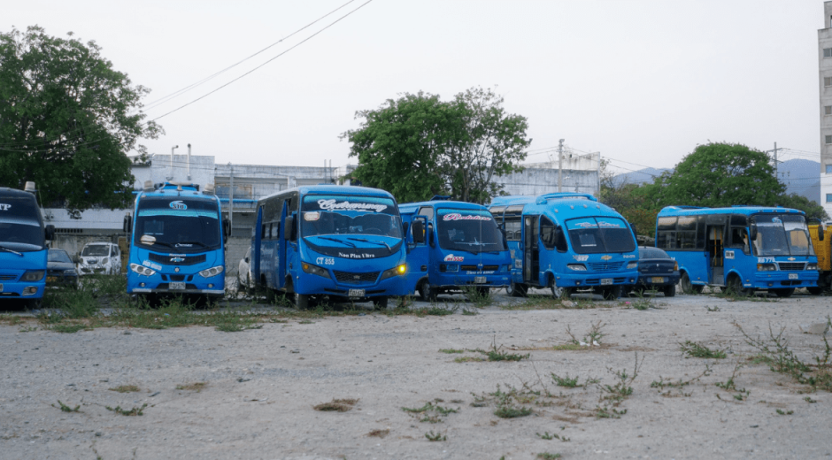
[[[335,234],[402,238],[396,203],[383,196],[307,195],[301,212],[304,238]]]

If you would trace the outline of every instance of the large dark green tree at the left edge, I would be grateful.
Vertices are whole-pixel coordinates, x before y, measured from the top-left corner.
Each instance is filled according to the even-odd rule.
[[[67,210],[94,205],[124,208],[134,180],[127,152],[146,153],[140,138],[161,126],[144,122],[141,99],[96,42],[26,33],[0,33],[0,186],[34,180],[43,203]]]

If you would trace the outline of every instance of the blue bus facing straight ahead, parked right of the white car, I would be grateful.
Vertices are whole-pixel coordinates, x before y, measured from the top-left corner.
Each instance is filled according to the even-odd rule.
[[[220,210],[220,199],[197,185],[147,183],[124,221],[124,231],[133,233],[127,294],[220,298],[230,230]]]

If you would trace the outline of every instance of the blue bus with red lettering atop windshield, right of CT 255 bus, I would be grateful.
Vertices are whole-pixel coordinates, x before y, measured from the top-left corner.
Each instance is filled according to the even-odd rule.
[[[422,300],[432,302],[436,295],[464,288],[483,296],[490,288],[507,288],[512,259],[489,210],[437,198],[398,207],[413,241],[407,254],[408,294],[418,291]]]

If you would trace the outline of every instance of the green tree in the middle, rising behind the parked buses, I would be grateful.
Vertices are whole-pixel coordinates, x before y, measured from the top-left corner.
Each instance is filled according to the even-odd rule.
[[[452,101],[419,92],[358,111],[361,126],[341,135],[358,157],[355,177],[399,202],[434,195],[487,203],[501,193],[495,176],[520,170],[528,122],[506,114],[503,98],[472,88]]]

